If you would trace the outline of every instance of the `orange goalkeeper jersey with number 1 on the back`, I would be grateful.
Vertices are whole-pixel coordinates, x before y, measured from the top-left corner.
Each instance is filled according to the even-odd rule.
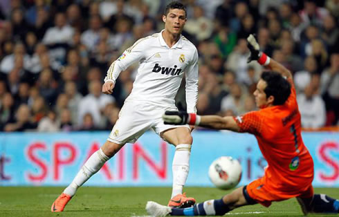
[[[284,105],[234,117],[241,132],[255,135],[268,162],[264,182],[273,189],[298,191],[311,185],[313,160],[301,135],[301,116],[292,79],[291,95]]]

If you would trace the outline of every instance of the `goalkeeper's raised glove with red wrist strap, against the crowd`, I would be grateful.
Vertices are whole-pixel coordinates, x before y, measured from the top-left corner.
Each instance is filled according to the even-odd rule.
[[[248,49],[250,49],[250,56],[247,59],[247,63],[250,63],[253,60],[256,60],[260,65],[264,66],[270,63],[270,57],[260,51],[260,46],[254,35],[250,34],[247,37],[247,46]]]

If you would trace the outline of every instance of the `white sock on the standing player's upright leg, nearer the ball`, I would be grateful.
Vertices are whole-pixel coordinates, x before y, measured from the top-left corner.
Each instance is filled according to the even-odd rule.
[[[183,186],[186,183],[188,170],[190,169],[191,144],[178,144],[172,163],[173,187],[172,196],[183,194]]]

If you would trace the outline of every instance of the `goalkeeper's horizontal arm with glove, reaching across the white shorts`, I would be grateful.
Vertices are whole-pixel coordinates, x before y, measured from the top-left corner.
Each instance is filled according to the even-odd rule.
[[[163,120],[165,124],[190,124],[209,129],[225,129],[235,132],[240,130],[232,116],[221,117],[218,115],[196,115],[185,111],[166,111],[163,115]]]

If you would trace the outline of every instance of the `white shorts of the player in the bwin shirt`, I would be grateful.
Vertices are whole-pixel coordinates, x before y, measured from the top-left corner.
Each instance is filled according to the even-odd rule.
[[[153,129],[158,135],[161,132],[186,125],[168,125],[163,123],[166,110],[178,111],[176,106],[161,106],[149,102],[125,101],[119,113],[119,119],[109,133],[110,142],[117,144],[134,143],[145,131]]]

